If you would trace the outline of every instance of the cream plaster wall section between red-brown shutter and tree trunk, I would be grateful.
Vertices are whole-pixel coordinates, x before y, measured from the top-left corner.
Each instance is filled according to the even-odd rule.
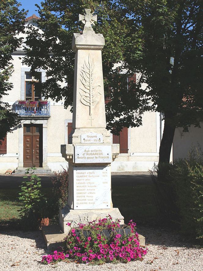
[[[142,126],[131,128],[131,152],[156,152],[156,112],[145,112]]]

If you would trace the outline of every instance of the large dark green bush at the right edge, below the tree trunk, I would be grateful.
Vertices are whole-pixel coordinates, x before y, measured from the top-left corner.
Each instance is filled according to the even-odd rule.
[[[166,171],[161,177],[160,171]],[[158,173],[158,178],[155,173]],[[151,171],[157,186],[157,203],[164,219],[184,235],[203,239],[203,153],[193,148],[186,159]]]

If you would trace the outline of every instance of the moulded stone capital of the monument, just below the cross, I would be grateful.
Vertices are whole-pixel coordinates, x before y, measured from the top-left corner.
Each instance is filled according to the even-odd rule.
[[[92,31],[87,31],[82,35],[79,33],[73,34],[72,50],[76,53],[78,50],[102,50],[105,45],[105,39],[102,34],[95,34]]]

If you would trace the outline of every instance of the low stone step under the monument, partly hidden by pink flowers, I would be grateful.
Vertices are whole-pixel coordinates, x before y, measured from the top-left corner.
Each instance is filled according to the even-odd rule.
[[[59,225],[50,225],[42,227],[42,235],[46,243],[47,250],[58,250],[60,248],[66,247],[66,241],[64,238],[67,234],[60,230]],[[141,234],[138,236],[140,246],[145,246],[145,237]]]

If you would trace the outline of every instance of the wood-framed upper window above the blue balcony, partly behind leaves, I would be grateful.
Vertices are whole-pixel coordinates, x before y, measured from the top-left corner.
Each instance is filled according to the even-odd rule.
[[[39,80],[31,76],[30,72],[25,72],[25,100],[39,101],[41,93],[35,90],[35,85],[32,82],[41,81],[41,72],[39,72]]]

